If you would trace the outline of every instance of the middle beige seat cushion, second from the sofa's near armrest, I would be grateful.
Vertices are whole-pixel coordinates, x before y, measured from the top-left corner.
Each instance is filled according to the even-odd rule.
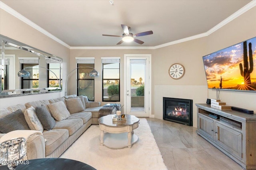
[[[82,125],[82,119],[65,119],[62,121],[56,121],[56,124],[52,129],[68,129],[69,136],[71,136],[80,129]]]

